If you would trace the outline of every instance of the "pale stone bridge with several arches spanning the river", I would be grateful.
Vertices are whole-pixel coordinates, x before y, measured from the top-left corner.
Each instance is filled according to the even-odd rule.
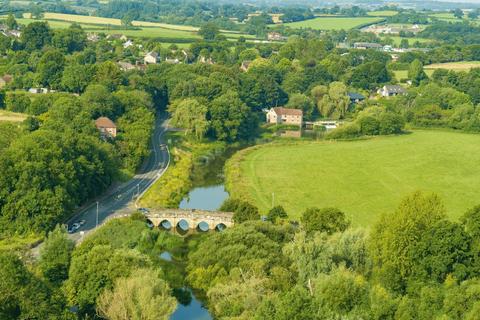
[[[168,222],[172,228],[188,225],[188,229],[222,230],[233,226],[233,213],[205,210],[184,210],[184,209],[161,209],[151,210],[145,217],[155,227],[163,226]],[[184,228],[184,227],[183,227]]]

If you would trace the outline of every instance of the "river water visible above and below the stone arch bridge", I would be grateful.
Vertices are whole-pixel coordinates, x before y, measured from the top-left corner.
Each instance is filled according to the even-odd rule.
[[[217,156],[206,164],[196,165],[193,171],[194,188],[181,201],[181,209],[218,210],[223,201],[228,198],[228,193],[223,184],[223,166],[227,156]],[[162,253],[163,258],[168,261],[169,254]],[[197,299],[190,287],[184,288],[186,294],[191,295],[191,300],[179,303],[177,310],[172,314],[170,320],[211,320],[212,315],[203,303]]]

